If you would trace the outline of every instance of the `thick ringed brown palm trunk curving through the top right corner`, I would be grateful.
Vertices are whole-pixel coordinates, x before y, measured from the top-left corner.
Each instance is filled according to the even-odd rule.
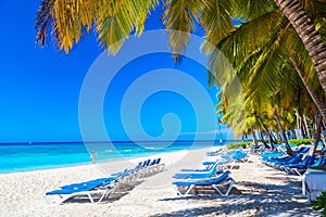
[[[326,46],[298,0],[274,0],[291,22],[317,72],[321,86],[326,91]]]

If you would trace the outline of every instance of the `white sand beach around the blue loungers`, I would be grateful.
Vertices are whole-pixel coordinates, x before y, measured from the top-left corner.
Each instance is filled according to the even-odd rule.
[[[145,178],[118,200],[99,204],[49,205],[43,195],[60,186],[105,177],[156,156],[0,175],[0,216],[321,216],[302,195],[300,177],[269,168],[254,154],[249,154],[250,163],[239,163],[239,169],[231,170],[238,191],[229,196],[177,196],[172,176],[180,168],[196,167],[206,151],[160,154],[166,164],[164,171]]]

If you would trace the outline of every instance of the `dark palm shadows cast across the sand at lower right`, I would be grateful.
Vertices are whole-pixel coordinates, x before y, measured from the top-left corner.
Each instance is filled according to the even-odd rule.
[[[238,187],[244,187],[246,190],[241,190],[240,195],[229,195],[227,197],[214,194],[164,199],[162,201],[176,201],[176,203],[188,200],[195,204],[200,203],[202,207],[154,216],[321,216],[319,213],[312,210],[306,199],[302,195],[300,181],[292,181],[290,184],[284,186],[238,182]]]

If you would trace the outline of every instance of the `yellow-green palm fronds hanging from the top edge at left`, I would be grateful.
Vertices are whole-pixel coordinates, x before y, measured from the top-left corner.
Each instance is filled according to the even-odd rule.
[[[135,31],[140,35],[159,0],[42,0],[36,16],[36,41],[45,44],[52,34],[66,53],[95,26],[100,44],[115,54]]]

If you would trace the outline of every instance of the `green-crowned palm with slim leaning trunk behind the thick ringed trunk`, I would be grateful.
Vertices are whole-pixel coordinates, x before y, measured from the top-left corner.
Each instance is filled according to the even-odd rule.
[[[266,35],[266,31],[269,31],[269,35]],[[242,44],[238,41],[241,41]],[[237,50],[234,49],[235,47]],[[297,49],[293,49],[296,47]],[[256,88],[252,88],[254,91],[260,88],[261,84],[265,84],[265,86],[263,89],[260,88],[260,91],[271,92],[273,89],[275,90],[276,86],[268,84],[273,84],[273,79],[279,77],[280,73],[284,74],[285,71],[292,69],[292,67],[296,66],[301,80],[304,79],[302,82],[311,93],[312,99],[323,116],[325,116],[324,93],[322,95],[316,94],[316,90],[319,88],[314,81],[315,71],[312,62],[298,35],[278,10],[271,11],[261,17],[243,24],[228,37],[220,41],[217,48],[233,62],[236,73],[238,71],[241,72],[241,74],[244,74],[243,71],[251,72],[244,75],[238,74],[238,76],[253,76],[252,74],[254,74],[256,69],[252,71],[252,68],[266,68],[265,74],[262,74],[260,79],[256,79],[256,77],[252,79],[252,81],[258,81],[254,82]],[[216,59],[218,56],[212,55],[211,58]],[[250,65],[246,62],[255,64]],[[298,62],[300,62],[300,66]],[[302,66],[304,66],[304,71],[308,73],[303,72]],[[318,92],[324,91],[319,90]]]

